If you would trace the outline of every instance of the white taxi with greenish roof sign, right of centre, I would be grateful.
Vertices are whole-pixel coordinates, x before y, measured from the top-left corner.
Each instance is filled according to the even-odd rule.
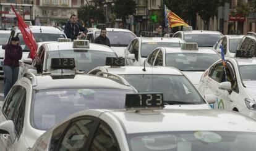
[[[176,67],[197,87],[203,71],[220,59],[212,49],[200,49],[197,43],[185,43],[182,47],[158,47],[148,55],[147,66]]]

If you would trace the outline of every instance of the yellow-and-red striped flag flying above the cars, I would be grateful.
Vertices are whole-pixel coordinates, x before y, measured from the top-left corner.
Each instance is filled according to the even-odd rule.
[[[177,16],[174,12],[169,10],[167,7],[165,7],[164,15],[166,15],[164,18],[168,19],[169,28],[181,27],[181,26],[188,27],[189,26],[186,22],[184,22],[184,20],[182,20],[181,17]]]

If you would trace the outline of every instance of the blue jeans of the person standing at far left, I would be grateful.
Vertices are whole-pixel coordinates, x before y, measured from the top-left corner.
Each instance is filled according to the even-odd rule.
[[[19,70],[19,67],[4,65],[4,97],[7,96],[14,83],[18,80]]]

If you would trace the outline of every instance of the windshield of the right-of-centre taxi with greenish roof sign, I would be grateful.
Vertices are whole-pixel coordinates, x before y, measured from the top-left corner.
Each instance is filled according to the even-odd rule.
[[[218,54],[169,53],[166,54],[166,66],[176,67],[181,71],[205,71],[219,59]]]

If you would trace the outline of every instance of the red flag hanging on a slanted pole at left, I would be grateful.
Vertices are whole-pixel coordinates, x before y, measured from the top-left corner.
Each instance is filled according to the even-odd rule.
[[[33,36],[33,33],[30,30],[30,28],[28,27],[28,25],[23,21],[23,18],[20,16],[20,14],[18,14],[15,11],[14,6],[11,5],[11,7],[17,17],[18,27],[23,35],[23,40],[24,40],[25,44],[28,46],[28,48],[30,49],[30,58],[34,59],[35,55],[37,56],[37,53],[36,53],[37,44],[36,44],[35,38]]]

